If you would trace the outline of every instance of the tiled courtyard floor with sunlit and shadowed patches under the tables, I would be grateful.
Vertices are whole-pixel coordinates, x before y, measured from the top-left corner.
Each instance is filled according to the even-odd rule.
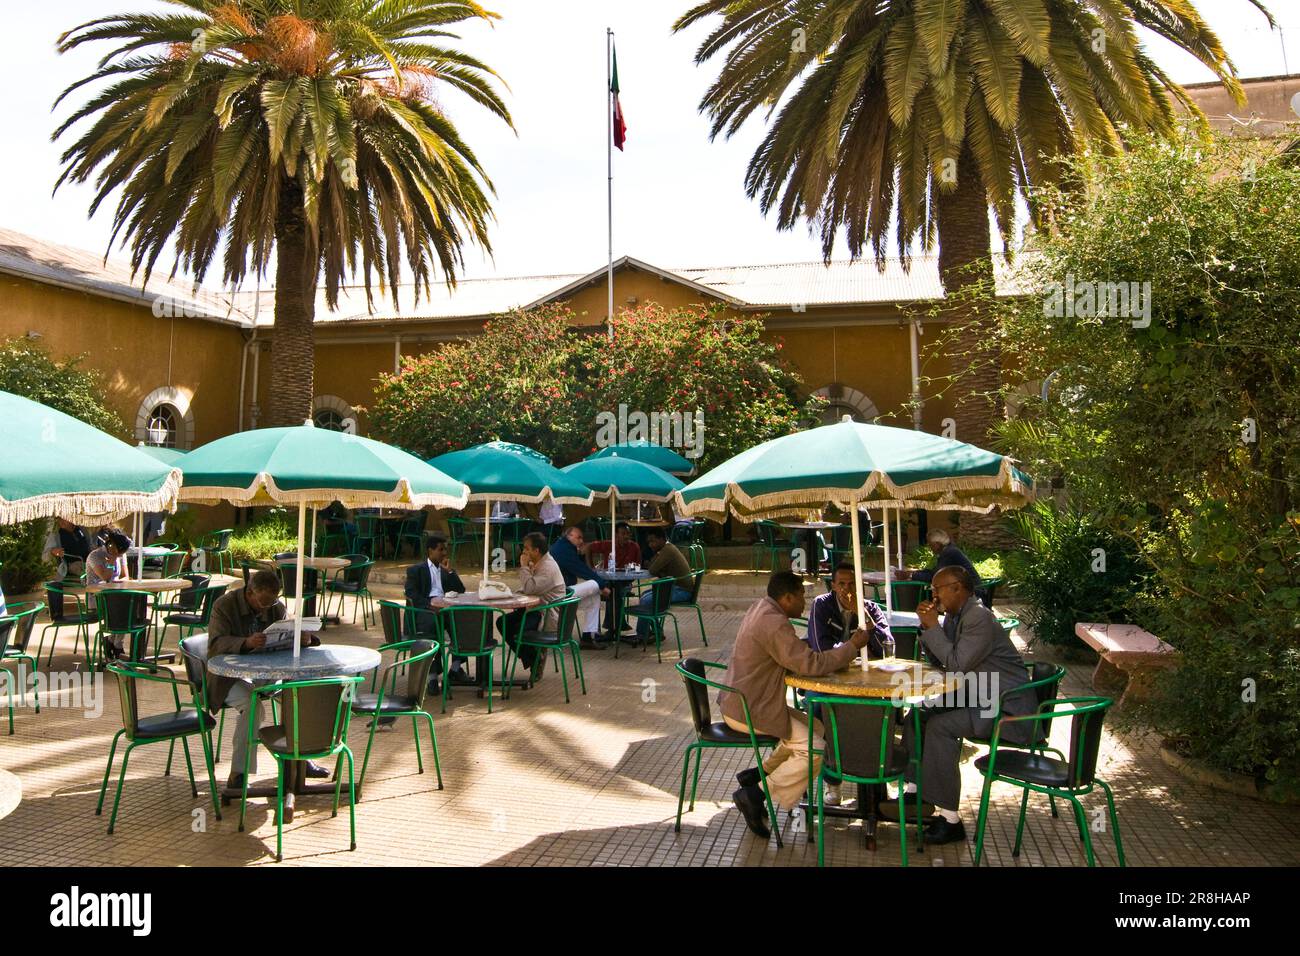
[[[398,597],[391,584],[377,597]],[[706,597],[710,639],[681,615],[688,654],[725,661],[748,598],[723,593]],[[173,632],[174,633],[174,632]],[[671,627],[670,627],[671,633]],[[377,627],[343,626],[326,632],[329,643],[378,646]],[[169,639],[172,641],[172,639]],[[174,641],[173,641],[174,643]],[[58,643],[55,670],[73,667],[72,637]],[[573,687],[564,704],[559,675],[549,670],[532,691],[508,701],[486,701],[460,689],[445,715],[430,705],[438,732],[446,783],[437,790],[430,761],[416,773],[408,726],[376,735],[365,793],[358,806],[358,848],[348,852],[347,814],[330,817],[328,797],[300,797],[285,830],[285,865],[615,865],[615,866],[789,866],[815,865],[816,847],[805,832],[785,826],[785,847],[762,842],[745,827],[731,804],[733,774],[750,765],[744,752],[706,754],[696,810],[673,832],[681,753],[692,739],[690,714],[673,670],[676,652],[656,663],[654,653],[623,649],[585,656],[588,693]],[[1087,667],[1071,667],[1062,693],[1091,692]],[[168,708],[165,688],[151,691],[153,706]],[[169,695],[168,695],[169,696]],[[208,818],[211,804],[190,795],[183,761],[164,777],[165,747],[147,747],[131,757],[117,831],[105,834],[108,809],[96,817],[95,801],[113,734],[121,727],[117,693],[109,682],[103,711],[87,715],[44,704],[42,713],[21,709],[14,736],[0,736],[0,771],[21,782],[21,801],[0,819],[6,862],[61,866],[248,865],[274,860],[276,827],[265,800],[250,803],[247,832],[238,832],[238,805],[221,821]],[[229,773],[226,722],[218,780]],[[355,719],[350,740],[360,771],[365,721]],[[1058,728],[1057,743],[1067,728]],[[968,866],[980,778],[963,754],[962,814],[971,840],[915,855],[920,866]],[[195,756],[198,758],[198,747]],[[273,771],[263,754],[263,777]],[[1100,773],[1118,803],[1124,851],[1131,866],[1240,866],[1300,864],[1300,812],[1223,793],[1191,783],[1169,769],[1149,736],[1106,735]],[[8,791],[13,791],[13,780]],[[270,778],[273,779],[273,778]],[[109,793],[109,801],[112,793]],[[0,813],[12,797],[0,800]],[[987,860],[998,866],[1082,865],[1083,851],[1069,814],[1053,819],[1046,801],[1034,797],[1026,845],[1011,857],[1019,791],[993,791]],[[1089,812],[1104,806],[1095,793]],[[883,825],[878,849],[864,849],[861,826],[828,821],[827,862],[896,866],[897,831]],[[1114,865],[1109,834],[1093,834],[1101,865]]]

